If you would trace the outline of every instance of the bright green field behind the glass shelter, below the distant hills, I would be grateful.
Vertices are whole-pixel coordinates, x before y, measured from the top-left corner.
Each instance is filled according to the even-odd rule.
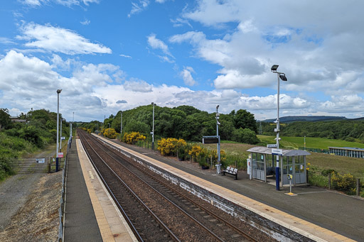
[[[276,143],[275,136],[257,136],[262,143]],[[304,147],[304,137],[280,137],[279,144],[282,148],[298,149]],[[306,148],[318,148],[328,150],[328,147],[355,147],[364,148],[364,143],[332,140],[328,138],[306,137]]]

